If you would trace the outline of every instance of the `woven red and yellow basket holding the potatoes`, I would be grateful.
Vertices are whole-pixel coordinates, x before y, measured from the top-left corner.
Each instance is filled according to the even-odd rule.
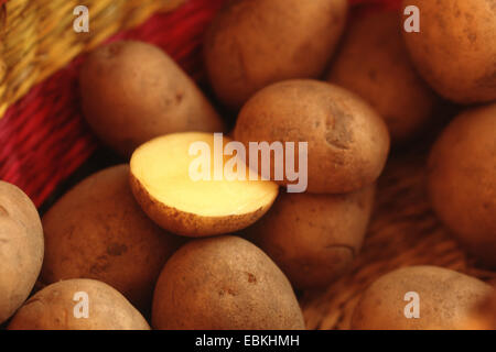
[[[73,183],[111,163],[97,163],[83,172],[80,168],[90,155],[112,158],[88,130],[78,106],[77,72],[85,53],[119,38],[151,42],[202,85],[202,35],[225,1],[86,0],[90,31],[75,33],[73,9],[78,1],[0,0],[0,178],[18,185],[36,206],[44,204],[45,208],[50,196],[56,198],[60,185],[66,188],[67,178],[76,169],[79,173],[73,176]],[[392,8],[399,3],[351,2]],[[379,179],[375,215],[354,267],[327,289],[301,294],[308,328],[347,329],[364,288],[400,266],[431,264],[484,280],[496,278],[495,273],[476,268],[429,207],[424,163],[431,142],[432,136],[427,136],[390,157]]]

